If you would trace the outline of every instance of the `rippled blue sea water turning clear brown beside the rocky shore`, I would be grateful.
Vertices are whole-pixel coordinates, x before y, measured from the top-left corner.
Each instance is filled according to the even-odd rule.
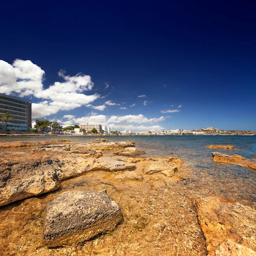
[[[73,142],[88,142],[100,136],[0,137],[1,141],[41,141],[68,138]],[[100,137],[102,138],[102,137]],[[246,201],[256,207],[256,170],[241,166],[215,163],[212,152],[239,154],[256,161],[256,136],[108,136],[109,141],[133,140],[146,151],[143,156],[177,156],[190,168],[186,185],[191,196],[221,194],[235,201]],[[235,150],[205,148],[206,145],[233,145]]]

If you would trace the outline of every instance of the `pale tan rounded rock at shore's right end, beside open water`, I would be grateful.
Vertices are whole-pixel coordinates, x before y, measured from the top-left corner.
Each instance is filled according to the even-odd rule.
[[[162,173],[165,176],[172,177],[175,172],[177,172],[177,167],[174,167],[172,164],[165,163],[163,161],[153,161],[145,167],[145,174],[156,174]]]

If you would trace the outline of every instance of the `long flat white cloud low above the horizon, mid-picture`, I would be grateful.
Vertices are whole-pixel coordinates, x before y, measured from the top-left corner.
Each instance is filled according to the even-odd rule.
[[[127,115],[127,116],[111,116],[108,119],[108,122],[113,122],[113,123],[118,123],[118,122],[128,122],[128,123],[154,123],[154,122],[159,122],[159,121],[163,121],[164,120],[164,116],[161,116],[159,118],[146,118],[145,116],[143,116],[142,114],[140,115]]]

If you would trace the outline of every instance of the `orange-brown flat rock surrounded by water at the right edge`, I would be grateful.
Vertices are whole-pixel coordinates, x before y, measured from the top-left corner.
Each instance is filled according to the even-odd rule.
[[[233,156],[229,156],[227,154],[221,154],[218,152],[213,152],[212,153],[212,160],[214,162],[219,162],[219,163],[230,163],[230,164],[235,164],[239,166],[244,166],[244,167],[249,167],[252,169],[256,169],[256,162],[246,160],[244,157],[241,157],[237,154],[234,154]]]

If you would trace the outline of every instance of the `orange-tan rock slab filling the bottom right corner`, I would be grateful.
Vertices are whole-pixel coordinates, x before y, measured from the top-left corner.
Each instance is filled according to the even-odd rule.
[[[196,209],[209,256],[255,255],[255,209],[219,197],[196,200]]]

